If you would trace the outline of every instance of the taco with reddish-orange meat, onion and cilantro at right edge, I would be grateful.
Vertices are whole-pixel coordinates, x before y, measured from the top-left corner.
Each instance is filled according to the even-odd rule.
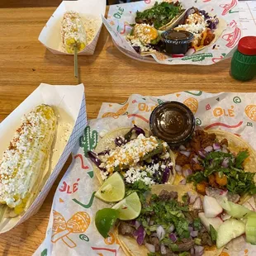
[[[193,183],[197,192],[214,197],[226,194],[243,203],[256,193],[256,154],[237,135],[224,130],[196,130],[179,147],[174,184]]]

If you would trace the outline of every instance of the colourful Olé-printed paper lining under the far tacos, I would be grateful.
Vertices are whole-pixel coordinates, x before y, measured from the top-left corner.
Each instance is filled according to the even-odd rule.
[[[145,0],[113,5],[109,9],[107,20],[102,17],[103,23],[110,32],[117,48],[130,58],[150,62],[149,57],[141,56],[135,52],[127,42],[126,35],[130,34],[130,24],[135,24],[136,12],[153,7],[154,2],[162,2],[162,0]],[[220,17],[226,22],[225,31],[213,45],[209,45],[193,55],[171,58],[168,55],[156,52],[151,54],[154,61],[159,64],[211,65],[230,57],[242,35],[239,24],[238,0],[180,0],[179,2],[182,2],[185,9],[197,7]]]

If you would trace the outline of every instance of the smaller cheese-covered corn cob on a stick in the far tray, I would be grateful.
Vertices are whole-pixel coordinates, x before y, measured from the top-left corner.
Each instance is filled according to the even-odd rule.
[[[61,24],[61,37],[64,50],[73,54],[76,47],[78,52],[87,45],[84,24],[78,12],[65,12]]]

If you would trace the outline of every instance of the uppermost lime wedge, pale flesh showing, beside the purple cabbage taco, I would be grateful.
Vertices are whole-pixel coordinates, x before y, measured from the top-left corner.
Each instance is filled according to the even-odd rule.
[[[126,187],[121,174],[114,173],[107,181],[102,184],[102,187],[95,193],[95,197],[102,201],[121,201],[125,197]]]

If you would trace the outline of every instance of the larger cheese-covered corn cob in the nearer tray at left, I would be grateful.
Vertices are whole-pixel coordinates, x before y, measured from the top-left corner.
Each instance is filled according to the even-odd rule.
[[[54,110],[40,105],[21,119],[7,150],[0,160],[0,204],[19,215],[35,193],[47,166],[55,138]],[[13,214],[14,213],[14,214]]]

